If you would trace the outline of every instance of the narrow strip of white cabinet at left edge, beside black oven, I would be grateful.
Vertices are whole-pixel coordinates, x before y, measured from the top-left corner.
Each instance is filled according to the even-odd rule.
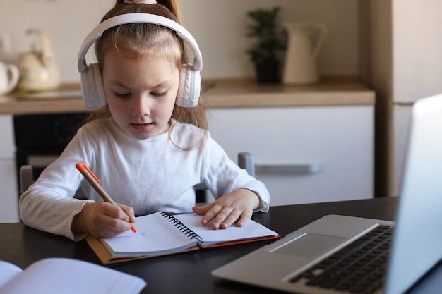
[[[0,223],[20,221],[12,115],[0,115]]]

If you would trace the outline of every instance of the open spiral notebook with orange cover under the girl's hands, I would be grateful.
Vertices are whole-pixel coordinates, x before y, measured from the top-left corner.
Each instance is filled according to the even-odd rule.
[[[137,233],[126,231],[114,238],[86,237],[92,250],[104,264],[131,259],[169,255],[198,248],[208,248],[279,238],[261,223],[247,221],[245,226],[213,230],[201,224],[197,214],[156,212],[138,216]]]

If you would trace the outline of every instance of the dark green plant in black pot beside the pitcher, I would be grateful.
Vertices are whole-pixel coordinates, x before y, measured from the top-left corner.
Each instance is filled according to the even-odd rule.
[[[279,81],[278,51],[285,49],[281,31],[277,24],[280,7],[258,8],[248,11],[247,16],[253,20],[247,26],[246,36],[256,39],[246,51],[256,68],[258,83],[274,83]]]

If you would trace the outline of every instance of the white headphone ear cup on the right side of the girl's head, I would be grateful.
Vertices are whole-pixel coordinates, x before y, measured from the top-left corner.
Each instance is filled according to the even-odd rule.
[[[201,75],[193,71],[190,65],[181,68],[179,90],[175,104],[181,107],[195,107],[198,105],[201,90]]]

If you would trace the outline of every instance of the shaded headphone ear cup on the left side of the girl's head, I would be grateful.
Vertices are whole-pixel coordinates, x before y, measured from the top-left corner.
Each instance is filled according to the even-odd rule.
[[[88,65],[86,71],[81,73],[81,90],[86,107],[93,109],[107,104],[102,75],[97,63]]]

